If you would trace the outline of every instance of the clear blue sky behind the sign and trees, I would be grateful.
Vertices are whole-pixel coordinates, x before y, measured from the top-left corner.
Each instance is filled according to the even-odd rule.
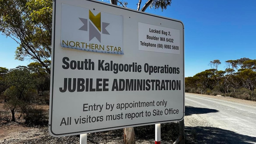
[[[125,1],[125,0],[124,0]],[[134,0],[127,7],[136,9]],[[142,0],[142,6],[145,0]],[[210,69],[210,61],[243,57],[256,59],[256,0],[172,0],[167,10],[146,12],[178,19],[185,27],[185,77]],[[18,44],[0,35],[0,67],[28,65],[31,60],[14,60]]]

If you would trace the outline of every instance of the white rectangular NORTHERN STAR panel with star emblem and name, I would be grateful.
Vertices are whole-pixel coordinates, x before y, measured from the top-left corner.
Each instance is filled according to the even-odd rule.
[[[123,17],[62,4],[61,47],[123,55]]]

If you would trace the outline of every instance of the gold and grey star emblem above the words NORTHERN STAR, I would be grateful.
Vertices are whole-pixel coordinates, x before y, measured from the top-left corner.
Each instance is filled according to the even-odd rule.
[[[79,29],[82,31],[87,31],[88,30],[88,20],[85,18],[79,18],[83,22],[83,26]],[[106,30],[106,27],[110,23],[101,23],[101,12],[99,12],[96,16],[89,10],[89,41],[93,39],[94,37],[98,39],[99,42],[101,42],[101,34],[109,34],[109,32]],[[102,26],[102,29],[101,29]]]

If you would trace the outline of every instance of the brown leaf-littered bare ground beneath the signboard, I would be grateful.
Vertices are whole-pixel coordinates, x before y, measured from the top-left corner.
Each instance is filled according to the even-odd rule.
[[[48,132],[48,127],[29,127],[19,122],[9,122],[0,125],[0,143],[2,144],[79,144],[79,135],[67,137],[52,137]],[[111,130],[105,132],[89,133],[88,144],[119,144],[123,143],[123,130]],[[150,140],[136,140],[136,143],[154,143],[154,138]],[[163,144],[171,141],[161,141]]]

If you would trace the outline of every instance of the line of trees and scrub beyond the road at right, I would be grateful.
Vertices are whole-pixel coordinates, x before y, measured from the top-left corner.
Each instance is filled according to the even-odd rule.
[[[210,61],[203,72],[185,77],[185,92],[231,96],[256,100],[256,59],[240,58],[225,61],[225,71],[219,70],[219,60]]]

